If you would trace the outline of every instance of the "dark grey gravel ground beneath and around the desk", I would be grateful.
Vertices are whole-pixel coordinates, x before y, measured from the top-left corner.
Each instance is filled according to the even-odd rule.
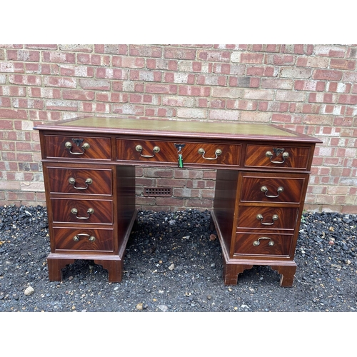
[[[224,286],[208,211],[139,211],[121,283],[93,261],[49,281],[46,208],[0,207],[0,311],[357,311],[356,215],[304,213],[293,288],[268,266]]]

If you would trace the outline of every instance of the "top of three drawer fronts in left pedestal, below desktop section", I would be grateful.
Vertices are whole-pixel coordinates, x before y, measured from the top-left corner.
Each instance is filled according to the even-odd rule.
[[[112,194],[111,169],[48,167],[50,193]]]

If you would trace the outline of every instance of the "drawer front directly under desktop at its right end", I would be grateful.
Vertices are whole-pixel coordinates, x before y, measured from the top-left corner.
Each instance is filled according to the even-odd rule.
[[[269,167],[276,169],[308,169],[311,155],[309,147],[285,146],[246,146],[245,166]]]

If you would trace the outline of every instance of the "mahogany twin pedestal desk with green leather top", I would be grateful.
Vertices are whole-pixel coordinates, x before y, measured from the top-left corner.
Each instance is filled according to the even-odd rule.
[[[36,126],[49,217],[49,279],[90,259],[119,282],[136,219],[135,166],[216,169],[211,218],[223,281],[271,266],[293,286],[293,260],[319,141],[269,124],[84,117]]]

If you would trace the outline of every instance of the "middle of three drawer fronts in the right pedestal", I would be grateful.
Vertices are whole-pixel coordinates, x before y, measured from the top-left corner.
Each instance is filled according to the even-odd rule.
[[[293,229],[298,218],[298,208],[241,206],[238,211],[238,228]]]

